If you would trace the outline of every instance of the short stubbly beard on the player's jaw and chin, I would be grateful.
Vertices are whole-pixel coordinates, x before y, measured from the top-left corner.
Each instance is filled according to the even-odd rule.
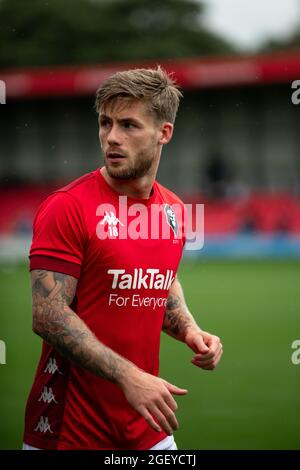
[[[113,165],[111,166],[106,159],[104,159],[104,165],[107,173],[111,178],[120,179],[120,180],[136,180],[147,175],[149,170],[152,167],[154,161],[155,153],[152,151],[141,151],[139,152],[134,162],[129,162],[124,160],[125,167],[116,168]]]

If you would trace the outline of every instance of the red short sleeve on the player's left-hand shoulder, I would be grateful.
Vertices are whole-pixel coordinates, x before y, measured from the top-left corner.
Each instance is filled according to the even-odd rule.
[[[84,241],[80,204],[68,193],[51,195],[40,206],[34,221],[30,270],[47,269],[79,278]]]

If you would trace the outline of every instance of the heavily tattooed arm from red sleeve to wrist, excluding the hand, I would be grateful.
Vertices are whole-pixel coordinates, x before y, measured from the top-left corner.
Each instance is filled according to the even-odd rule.
[[[33,270],[33,331],[62,356],[112,382],[120,382],[133,364],[102,344],[70,308],[77,279]]]

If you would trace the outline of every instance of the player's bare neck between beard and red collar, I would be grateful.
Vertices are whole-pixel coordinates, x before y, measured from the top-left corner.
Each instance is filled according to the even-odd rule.
[[[116,179],[109,176],[105,167],[101,168],[101,174],[109,186],[120,193],[137,199],[149,199],[156,177],[156,172],[135,180]]]

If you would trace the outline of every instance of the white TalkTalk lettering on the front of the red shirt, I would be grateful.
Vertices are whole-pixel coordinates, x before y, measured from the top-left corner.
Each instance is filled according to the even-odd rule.
[[[160,289],[169,290],[174,279],[172,269],[167,269],[165,274],[155,268],[134,268],[133,274],[125,269],[109,269],[107,274],[113,276],[112,289]]]

